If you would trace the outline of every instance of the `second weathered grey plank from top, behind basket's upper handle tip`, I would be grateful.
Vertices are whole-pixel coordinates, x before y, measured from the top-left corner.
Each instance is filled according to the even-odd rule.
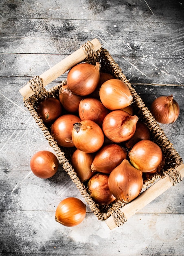
[[[90,23],[88,20],[67,22],[66,24],[65,20],[55,19],[2,18],[1,49],[7,53],[70,54],[81,46],[81,42],[97,37],[103,47],[108,48],[110,52],[119,52],[123,56],[132,58],[143,56],[148,59],[160,58],[160,56],[166,59],[173,56],[177,58],[184,52],[182,43],[184,30],[177,22],[169,25],[166,22],[145,23],[136,20],[131,23],[124,20],[117,20],[116,23],[101,20],[100,25],[99,20],[92,20]],[[149,33],[143,33],[142,27]],[[172,51],[170,51],[171,46]]]

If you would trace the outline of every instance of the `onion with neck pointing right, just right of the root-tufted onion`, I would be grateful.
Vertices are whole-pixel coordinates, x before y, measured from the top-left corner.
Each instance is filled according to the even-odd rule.
[[[114,110],[106,115],[102,129],[105,136],[116,143],[127,141],[136,130],[138,117],[123,110]]]

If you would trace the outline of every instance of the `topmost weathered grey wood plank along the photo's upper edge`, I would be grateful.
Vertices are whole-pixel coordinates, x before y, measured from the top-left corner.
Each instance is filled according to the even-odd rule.
[[[114,0],[99,2],[68,0],[67,2],[55,0],[45,2],[11,2],[10,0],[1,0],[0,17],[4,18],[46,18],[67,20],[120,20],[136,22],[162,22],[181,23],[183,20],[183,6],[180,2],[172,0],[140,1],[138,4],[135,0],[128,2]],[[44,7],[44,9],[43,9]],[[166,7],[166,8],[165,8]],[[130,16],[131,14],[131,16]],[[156,18],[155,18],[156,17]]]

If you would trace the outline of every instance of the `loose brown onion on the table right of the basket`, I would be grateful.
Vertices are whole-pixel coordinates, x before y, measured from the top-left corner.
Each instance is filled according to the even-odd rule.
[[[173,95],[161,96],[151,104],[151,113],[159,123],[172,124],[177,120],[180,108]]]

